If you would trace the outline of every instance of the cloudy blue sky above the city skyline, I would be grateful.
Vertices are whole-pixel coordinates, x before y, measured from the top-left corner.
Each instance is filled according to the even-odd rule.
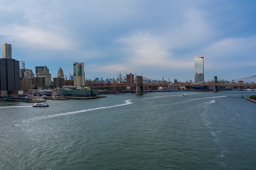
[[[255,0],[0,0],[0,43],[35,73],[194,81],[256,75]],[[253,80],[256,81],[256,80]]]

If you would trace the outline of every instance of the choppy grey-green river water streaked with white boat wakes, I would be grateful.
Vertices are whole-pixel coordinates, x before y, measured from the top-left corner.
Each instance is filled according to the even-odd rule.
[[[0,169],[255,170],[255,93],[0,101]]]

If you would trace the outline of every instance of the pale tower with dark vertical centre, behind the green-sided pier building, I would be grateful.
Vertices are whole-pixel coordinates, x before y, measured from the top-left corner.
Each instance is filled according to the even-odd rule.
[[[76,87],[84,87],[85,86],[85,73],[84,73],[84,65],[83,62],[73,63],[74,69],[74,86]]]

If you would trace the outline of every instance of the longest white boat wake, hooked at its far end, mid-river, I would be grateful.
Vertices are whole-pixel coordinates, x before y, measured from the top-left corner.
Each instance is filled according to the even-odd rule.
[[[106,108],[115,108],[115,107],[120,107],[120,106],[125,106],[125,105],[132,104],[132,102],[130,102],[130,100],[125,100],[124,102],[125,102],[124,104],[117,104],[117,105],[112,105],[112,106],[103,106],[103,107],[99,107],[99,108],[90,108],[90,109],[85,109],[85,110],[77,110],[77,111],[74,111],[74,112],[59,113],[59,114],[55,114],[55,115],[45,115],[45,116],[34,117],[32,119],[23,120],[22,123],[29,123],[29,122],[38,121],[38,120],[50,119],[50,118],[53,118],[53,117],[72,115],[72,114],[76,114],[76,113],[83,113],[83,112],[106,109]]]

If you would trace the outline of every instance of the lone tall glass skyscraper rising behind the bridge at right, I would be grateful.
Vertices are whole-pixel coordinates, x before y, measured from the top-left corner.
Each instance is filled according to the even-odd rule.
[[[195,83],[204,82],[204,56],[195,57]]]

